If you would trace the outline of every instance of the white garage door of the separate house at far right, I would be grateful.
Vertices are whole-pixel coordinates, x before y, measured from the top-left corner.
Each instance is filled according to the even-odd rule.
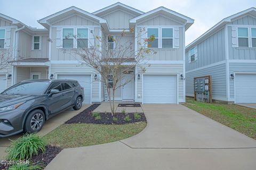
[[[256,74],[236,74],[236,103],[256,103]]]

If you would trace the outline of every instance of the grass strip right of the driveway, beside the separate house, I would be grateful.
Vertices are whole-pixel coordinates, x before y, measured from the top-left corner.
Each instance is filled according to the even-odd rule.
[[[190,98],[183,105],[256,139],[256,109],[235,104],[202,103]]]

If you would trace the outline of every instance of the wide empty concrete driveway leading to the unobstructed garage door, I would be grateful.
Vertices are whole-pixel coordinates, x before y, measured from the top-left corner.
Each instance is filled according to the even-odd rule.
[[[118,142],[63,149],[45,169],[255,169],[256,141],[177,104],[145,104],[147,127]]]

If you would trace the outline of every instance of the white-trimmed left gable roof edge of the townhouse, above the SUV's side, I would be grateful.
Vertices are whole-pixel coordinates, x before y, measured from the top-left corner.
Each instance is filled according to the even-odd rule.
[[[40,23],[45,28],[49,29],[50,28],[50,24],[52,22],[61,20],[61,19],[65,18],[65,17],[70,16],[71,14],[74,14],[74,13],[86,15],[86,17],[89,17],[91,19],[97,20],[97,21],[99,21],[99,23],[102,23],[103,27],[107,27],[109,29],[107,20],[105,20],[103,18],[100,18],[100,17],[98,17],[98,16],[96,16],[94,14],[91,14],[91,13],[89,13],[87,11],[84,11],[82,9],[79,9],[76,6],[70,6],[70,7],[68,7],[65,10],[62,10],[62,11],[59,11],[59,12],[54,13],[52,15],[49,15],[48,17],[45,17],[45,18],[43,18],[41,20],[38,20],[37,22]]]

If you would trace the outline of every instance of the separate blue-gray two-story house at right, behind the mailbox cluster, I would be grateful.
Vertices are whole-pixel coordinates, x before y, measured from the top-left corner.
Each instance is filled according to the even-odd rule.
[[[186,95],[194,77],[212,76],[212,99],[256,103],[256,9],[221,20],[186,46]]]

